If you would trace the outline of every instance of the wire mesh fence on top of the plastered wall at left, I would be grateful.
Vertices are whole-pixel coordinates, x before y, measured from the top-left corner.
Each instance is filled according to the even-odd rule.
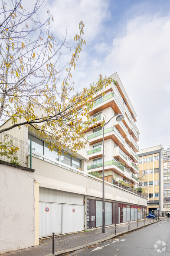
[[[7,133],[0,133],[0,160],[31,168],[29,144]]]

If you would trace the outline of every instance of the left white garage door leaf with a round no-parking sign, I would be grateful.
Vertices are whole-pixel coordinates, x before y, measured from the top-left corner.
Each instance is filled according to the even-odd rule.
[[[62,204],[39,202],[39,237],[62,233]]]

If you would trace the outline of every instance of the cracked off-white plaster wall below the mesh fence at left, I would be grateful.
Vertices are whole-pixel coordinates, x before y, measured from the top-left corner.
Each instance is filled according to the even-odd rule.
[[[0,253],[35,245],[34,172],[0,164]]]

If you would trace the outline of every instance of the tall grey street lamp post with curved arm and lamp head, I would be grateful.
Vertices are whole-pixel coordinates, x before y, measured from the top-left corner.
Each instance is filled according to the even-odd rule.
[[[122,114],[116,114],[112,118],[116,116],[116,121],[120,122],[123,120],[124,116]],[[111,118],[111,119],[112,119]],[[107,125],[111,119],[103,125],[103,179],[102,179],[102,185],[103,185],[103,207],[102,207],[102,233],[105,233],[105,161],[104,161],[104,129],[105,125]]]

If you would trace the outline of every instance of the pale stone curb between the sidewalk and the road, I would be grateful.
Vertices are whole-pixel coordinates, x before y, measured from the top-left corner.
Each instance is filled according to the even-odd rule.
[[[96,243],[101,243],[101,242],[104,242],[104,241],[106,241],[106,240],[112,239],[112,238],[114,238],[114,237],[118,237],[118,236],[121,236],[121,235],[124,235],[124,234],[128,234],[128,233],[133,232],[133,231],[138,230],[138,229],[143,229],[144,227],[150,226],[150,225],[152,225],[152,224],[154,224],[154,223],[157,223],[157,222],[160,222],[160,221],[162,221],[162,219],[160,219],[160,220],[158,220],[158,221],[156,221],[156,222],[148,223],[148,224],[146,224],[146,225],[144,225],[144,226],[141,226],[141,227],[138,227],[138,228],[134,228],[134,229],[131,229],[131,230],[127,230],[127,231],[124,231],[124,232],[119,232],[119,233],[116,234],[116,235],[111,235],[111,236],[108,236],[108,237],[106,237],[106,238],[104,238],[104,239],[100,239],[100,240],[97,240],[97,241],[93,241],[92,243],[88,243],[88,244],[84,244],[84,245],[81,245],[81,246],[77,246],[77,247],[74,247],[74,248],[71,248],[71,249],[66,249],[66,250],[62,250],[62,251],[59,251],[59,252],[55,252],[54,254],[49,253],[49,254],[46,254],[46,255],[44,255],[44,256],[59,256],[59,255],[64,255],[64,254],[66,254],[66,253],[72,253],[72,252],[75,252],[75,251],[77,251],[77,250],[79,250],[79,249],[83,249],[83,248],[85,248],[85,247],[92,246],[92,245],[94,245],[94,244],[96,244]]]

